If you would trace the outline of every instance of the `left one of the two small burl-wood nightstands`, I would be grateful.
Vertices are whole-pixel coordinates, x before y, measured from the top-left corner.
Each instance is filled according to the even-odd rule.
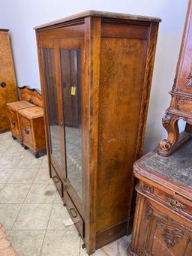
[[[34,105],[28,101],[7,103],[7,113],[10,119],[10,131],[12,133],[13,140],[18,139],[23,142],[18,111],[27,107],[34,107]]]

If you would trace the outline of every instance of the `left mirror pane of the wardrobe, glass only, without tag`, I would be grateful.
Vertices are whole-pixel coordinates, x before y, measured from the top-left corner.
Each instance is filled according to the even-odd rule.
[[[50,137],[50,151],[59,167],[62,166],[60,129],[58,120],[58,97],[55,77],[54,48],[43,48],[43,68],[46,86],[46,105]]]

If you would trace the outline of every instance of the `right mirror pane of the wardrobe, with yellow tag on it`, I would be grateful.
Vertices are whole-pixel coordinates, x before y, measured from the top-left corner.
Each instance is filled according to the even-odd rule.
[[[80,50],[62,49],[60,55],[62,66],[67,177],[82,200]]]

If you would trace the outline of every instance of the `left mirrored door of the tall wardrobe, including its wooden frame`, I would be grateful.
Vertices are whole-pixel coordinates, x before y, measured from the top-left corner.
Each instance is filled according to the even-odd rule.
[[[59,97],[56,82],[55,43],[46,41],[42,46],[43,74],[46,91],[46,112],[49,127],[49,147],[52,165],[61,178],[64,178],[61,155],[61,129],[59,118]]]

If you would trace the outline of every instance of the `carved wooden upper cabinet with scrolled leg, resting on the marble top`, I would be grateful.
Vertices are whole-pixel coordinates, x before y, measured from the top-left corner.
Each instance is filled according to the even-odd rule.
[[[192,0],[188,2],[184,34],[175,74],[172,99],[163,116],[163,127],[168,133],[167,140],[159,143],[158,154],[168,156],[191,137],[192,128]],[[187,128],[179,136],[178,119],[187,122]]]

